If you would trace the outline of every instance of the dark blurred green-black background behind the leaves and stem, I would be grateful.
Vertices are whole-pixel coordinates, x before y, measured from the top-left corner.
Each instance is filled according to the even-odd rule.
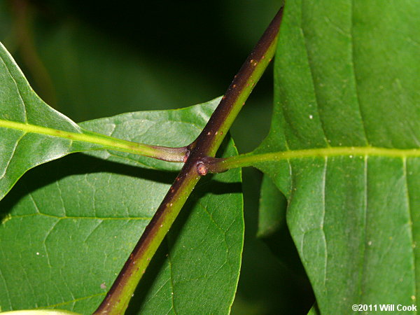
[[[0,40],[45,102],[82,122],[222,95],[280,4],[0,0]],[[232,128],[240,153],[267,134],[272,89],[270,67]],[[293,246],[274,241],[273,253],[255,237],[260,181],[244,169],[246,239],[232,314],[303,314],[307,282],[281,259]]]

